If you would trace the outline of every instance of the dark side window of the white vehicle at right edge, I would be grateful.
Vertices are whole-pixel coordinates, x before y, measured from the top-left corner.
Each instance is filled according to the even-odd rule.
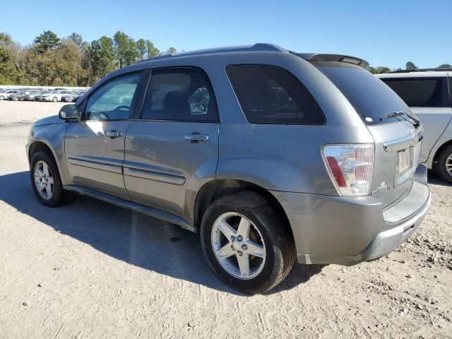
[[[410,107],[449,107],[446,78],[409,78],[382,81]]]

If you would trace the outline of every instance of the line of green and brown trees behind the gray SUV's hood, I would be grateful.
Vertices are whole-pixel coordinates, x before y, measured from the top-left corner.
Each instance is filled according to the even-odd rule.
[[[86,42],[75,32],[60,38],[46,30],[25,47],[0,32],[0,85],[91,86],[115,69],[175,52],[120,31]]]

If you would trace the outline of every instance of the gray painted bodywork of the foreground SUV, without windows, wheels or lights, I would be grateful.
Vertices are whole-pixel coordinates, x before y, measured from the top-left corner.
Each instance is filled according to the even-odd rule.
[[[249,63],[290,71],[315,97],[326,123],[250,124],[225,72],[227,65]],[[427,169],[417,166],[422,127],[409,121],[364,124],[347,97],[316,66],[279,47],[256,44],[149,59],[109,74],[76,104],[83,107],[92,93],[121,74],[179,66],[206,72],[220,121],[145,121],[137,115],[121,121],[48,117],[32,127],[28,158],[37,148],[48,148],[65,189],[194,232],[204,203],[219,187],[244,185],[266,191],[290,222],[300,263],[352,265],[379,258],[419,227],[430,202]],[[109,131],[119,137],[110,138]],[[184,140],[194,133],[208,136],[208,141]],[[326,169],[322,148],[349,143],[374,145],[368,196],[340,196]],[[397,154],[405,148],[412,152],[410,178],[397,185]]]

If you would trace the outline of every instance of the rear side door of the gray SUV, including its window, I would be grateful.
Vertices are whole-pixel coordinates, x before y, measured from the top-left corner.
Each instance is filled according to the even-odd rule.
[[[215,178],[218,110],[204,71],[154,69],[126,135],[124,182],[133,202],[185,218],[186,198]]]

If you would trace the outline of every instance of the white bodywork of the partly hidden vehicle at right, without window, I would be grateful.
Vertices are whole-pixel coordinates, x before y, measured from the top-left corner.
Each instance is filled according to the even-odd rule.
[[[378,74],[377,76],[384,80],[444,78],[446,83],[448,83],[449,95],[452,100],[451,71],[416,71]],[[448,107],[410,107],[410,109],[422,121],[422,126],[424,127],[424,140],[422,141],[419,161],[427,165],[429,169],[432,169],[438,158],[439,151],[446,145],[452,144],[452,105],[448,105]]]

